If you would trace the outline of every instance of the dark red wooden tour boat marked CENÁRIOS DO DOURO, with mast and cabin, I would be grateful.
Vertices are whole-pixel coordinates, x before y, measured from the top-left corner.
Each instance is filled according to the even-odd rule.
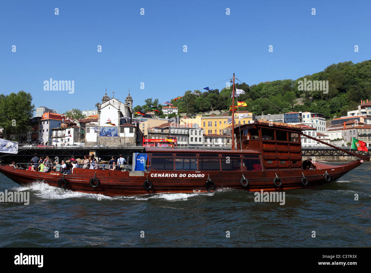
[[[234,74],[233,74],[234,93]],[[234,124],[234,97],[232,108]],[[334,181],[370,157],[348,152],[311,136],[300,127],[255,122],[235,128],[237,149],[173,149],[145,147],[133,155],[133,170],[74,168],[72,174],[32,172],[0,166],[0,172],[20,185],[43,181],[72,191],[103,195],[210,192],[232,188],[285,191]],[[344,165],[302,161],[301,136],[342,150],[359,159]]]

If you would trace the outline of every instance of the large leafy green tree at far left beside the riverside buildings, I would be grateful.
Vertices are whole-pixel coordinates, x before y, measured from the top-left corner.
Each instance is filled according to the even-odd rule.
[[[35,111],[32,96],[23,90],[9,95],[0,95],[0,127],[3,128],[4,139],[9,139],[10,134],[17,135],[32,130],[31,119]]]

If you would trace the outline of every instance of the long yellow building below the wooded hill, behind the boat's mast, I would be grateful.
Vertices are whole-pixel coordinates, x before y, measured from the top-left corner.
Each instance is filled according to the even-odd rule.
[[[245,115],[246,117],[239,118],[239,116]],[[223,135],[223,129],[226,129],[228,124],[228,118],[232,116],[215,116],[212,114],[209,117],[196,116],[196,118],[189,118],[187,116],[180,119],[180,125],[187,123],[197,123],[204,129],[204,134],[219,134]],[[255,120],[255,115],[249,111],[234,112],[234,124],[248,124]]]

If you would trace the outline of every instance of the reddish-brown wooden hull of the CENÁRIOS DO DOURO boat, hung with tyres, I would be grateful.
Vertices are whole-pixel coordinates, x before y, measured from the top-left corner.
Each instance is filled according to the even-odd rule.
[[[313,163],[315,170],[269,170],[269,171],[150,171],[150,172],[119,172],[109,170],[74,169],[74,174],[62,175],[58,172],[32,172],[14,169],[8,165],[0,166],[0,172],[20,185],[30,185],[35,182],[47,183],[58,187],[58,181],[66,179],[66,189],[85,193],[102,195],[143,195],[158,193],[193,193],[208,192],[206,181],[208,177],[214,182],[215,189],[232,188],[245,191],[286,191],[289,189],[313,188],[339,179],[345,173],[361,165],[363,160],[357,160],[345,165],[326,165]],[[330,179],[326,181],[325,174]],[[281,186],[273,185],[273,179],[280,178]],[[302,177],[308,179],[308,185],[301,182]],[[89,181],[96,177],[99,186],[93,188]],[[248,180],[247,186],[241,185],[241,179]],[[144,182],[150,181],[152,188],[146,190]],[[244,183],[246,183],[244,181]],[[93,184],[94,185],[94,184]],[[148,184],[147,184],[148,185]],[[209,183],[210,185],[210,183]],[[60,184],[64,186],[64,184]]]

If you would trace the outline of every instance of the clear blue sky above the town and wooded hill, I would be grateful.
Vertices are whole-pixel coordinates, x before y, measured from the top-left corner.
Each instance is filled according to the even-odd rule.
[[[370,10],[368,1],[2,1],[0,92],[24,90],[35,107],[63,113],[95,109],[106,88],[122,101],[130,88],[135,106],[233,72],[249,85],[297,79],[371,59]],[[44,91],[49,78],[75,81],[74,93]]]

